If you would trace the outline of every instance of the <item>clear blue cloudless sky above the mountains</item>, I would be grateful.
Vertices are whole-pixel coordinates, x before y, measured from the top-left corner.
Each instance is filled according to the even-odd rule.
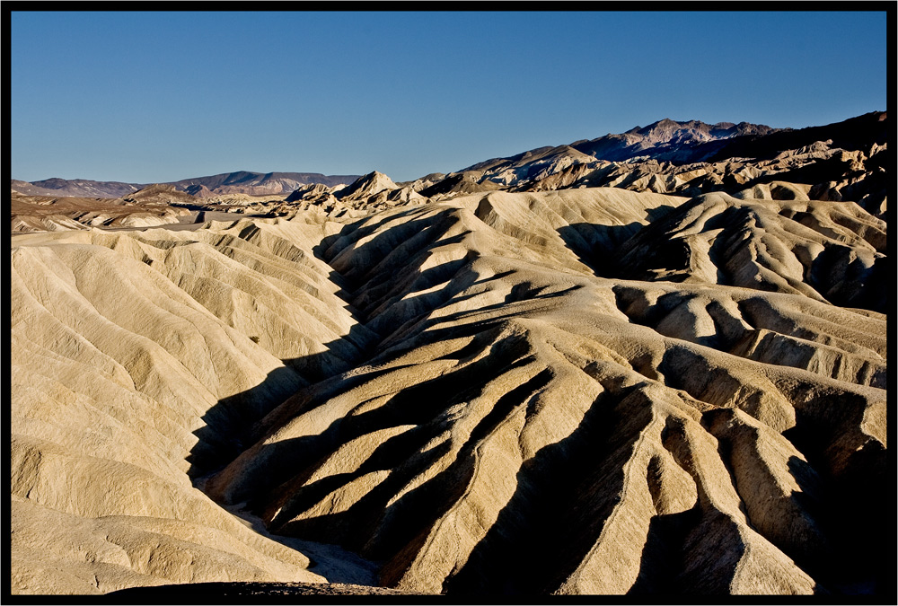
[[[412,180],[663,118],[886,109],[885,12],[13,12],[11,42],[21,180]]]

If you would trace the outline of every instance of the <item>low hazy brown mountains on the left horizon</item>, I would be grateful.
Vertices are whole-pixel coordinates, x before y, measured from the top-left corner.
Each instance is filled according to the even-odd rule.
[[[249,194],[264,196],[268,194],[289,194],[295,189],[313,183],[322,183],[328,187],[348,184],[357,180],[360,175],[323,175],[319,172],[251,172],[236,171],[212,175],[210,177],[194,177],[180,181],[168,181],[179,191],[191,196],[206,198],[223,194]],[[46,179],[40,181],[12,180],[12,188],[30,196],[72,196],[78,198],[121,198],[150,183],[123,183],[121,181],[94,181],[86,179]]]

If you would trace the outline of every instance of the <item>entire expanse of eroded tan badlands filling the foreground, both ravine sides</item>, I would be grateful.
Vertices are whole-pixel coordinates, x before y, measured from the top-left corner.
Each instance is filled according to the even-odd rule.
[[[13,238],[13,592],[884,590],[884,222],[391,184]]]

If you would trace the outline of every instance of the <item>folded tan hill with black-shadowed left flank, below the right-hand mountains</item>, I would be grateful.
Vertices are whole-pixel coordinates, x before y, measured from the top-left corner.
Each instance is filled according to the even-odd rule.
[[[854,203],[706,194],[638,233],[619,253],[621,277],[800,293],[886,310],[885,223]]]

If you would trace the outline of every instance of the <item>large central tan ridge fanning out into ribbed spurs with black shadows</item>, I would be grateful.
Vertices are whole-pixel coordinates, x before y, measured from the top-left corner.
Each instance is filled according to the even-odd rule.
[[[458,198],[330,243],[381,353],[276,408],[209,493],[383,559],[405,589],[824,591],[808,573],[832,570],[818,529],[849,510],[820,490],[851,481],[860,452],[885,456],[885,318],[699,281],[668,283],[678,301],[653,309],[664,291],[596,277],[541,231],[587,215],[577,193]],[[797,314],[820,321],[780,328],[780,352],[846,362],[739,355]]]

